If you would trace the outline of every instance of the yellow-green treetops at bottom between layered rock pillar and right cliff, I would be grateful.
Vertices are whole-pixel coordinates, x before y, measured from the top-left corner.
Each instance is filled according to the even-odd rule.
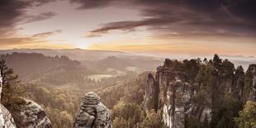
[[[161,128],[164,127],[161,113],[143,111],[135,103],[118,102],[111,111],[113,127],[118,128]]]

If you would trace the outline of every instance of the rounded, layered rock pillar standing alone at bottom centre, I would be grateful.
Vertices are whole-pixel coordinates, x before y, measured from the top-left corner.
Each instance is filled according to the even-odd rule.
[[[111,128],[110,113],[94,92],[85,93],[73,128]]]

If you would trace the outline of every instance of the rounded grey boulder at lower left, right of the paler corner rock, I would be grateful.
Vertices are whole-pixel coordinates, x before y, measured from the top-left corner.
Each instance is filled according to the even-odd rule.
[[[51,122],[46,113],[36,102],[24,99],[18,108],[12,111],[17,127],[22,128],[51,128]]]

